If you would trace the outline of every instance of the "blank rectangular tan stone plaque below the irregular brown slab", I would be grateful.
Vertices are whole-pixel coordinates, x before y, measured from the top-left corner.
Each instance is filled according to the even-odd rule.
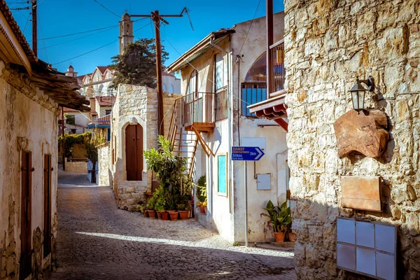
[[[342,176],[343,208],[381,211],[379,176]]]

